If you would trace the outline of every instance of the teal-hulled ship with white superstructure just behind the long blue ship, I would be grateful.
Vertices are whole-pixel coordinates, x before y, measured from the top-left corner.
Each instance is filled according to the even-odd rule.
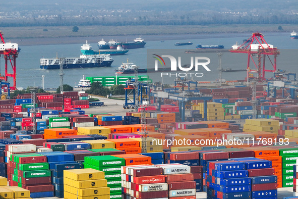
[[[104,49],[101,51],[93,51],[91,45],[86,41],[85,44],[81,46],[81,53],[82,55],[124,55],[128,52],[128,49],[123,49],[121,45],[117,46],[117,49]]]

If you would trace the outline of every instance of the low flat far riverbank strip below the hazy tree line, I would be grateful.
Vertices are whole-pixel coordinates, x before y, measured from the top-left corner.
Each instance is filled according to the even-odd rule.
[[[277,27],[282,26],[283,31]],[[48,31],[43,31],[43,29]],[[6,42],[18,43],[19,46],[97,43],[105,41],[133,41],[141,36],[145,41],[188,40],[217,37],[250,37],[253,32],[286,33],[297,29],[296,24],[265,25],[185,25],[185,26],[79,26],[78,32],[72,32],[70,26],[54,27],[0,27]]]

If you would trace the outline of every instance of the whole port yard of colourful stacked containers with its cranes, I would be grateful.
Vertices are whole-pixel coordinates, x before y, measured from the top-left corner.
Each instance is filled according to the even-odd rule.
[[[19,50],[0,35],[13,68],[0,80],[0,198],[298,198],[298,81],[261,33],[228,50],[248,55],[243,80],[222,81],[221,65],[219,80],[167,86],[137,70],[86,77],[123,85],[124,100],[63,91],[62,58],[61,93],[10,97]]]

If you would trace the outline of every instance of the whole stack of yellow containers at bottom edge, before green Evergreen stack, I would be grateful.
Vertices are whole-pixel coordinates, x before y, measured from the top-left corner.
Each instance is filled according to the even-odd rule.
[[[109,199],[110,190],[104,172],[95,169],[73,169],[64,172],[64,198]]]

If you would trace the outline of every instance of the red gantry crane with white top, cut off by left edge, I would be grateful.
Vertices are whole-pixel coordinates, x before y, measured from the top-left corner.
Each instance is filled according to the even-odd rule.
[[[5,81],[8,81],[8,77],[12,77],[14,84],[10,87],[12,90],[16,90],[16,58],[18,57],[19,51],[18,51],[18,44],[17,43],[11,43],[11,42],[5,42],[3,39],[3,33],[0,31],[0,38],[2,43],[0,42],[0,56],[3,55],[5,59],[5,76],[0,77],[0,79],[4,79]],[[13,73],[8,72],[8,66],[9,63],[13,69]]]

